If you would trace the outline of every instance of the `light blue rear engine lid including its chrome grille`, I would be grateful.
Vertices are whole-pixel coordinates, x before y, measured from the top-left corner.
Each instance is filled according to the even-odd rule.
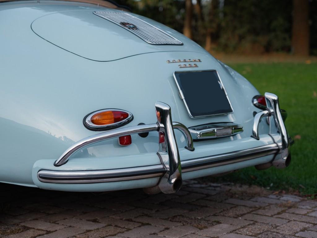
[[[204,50],[162,24],[117,10],[64,11],[36,19],[32,30],[48,42],[95,61],[159,51]]]

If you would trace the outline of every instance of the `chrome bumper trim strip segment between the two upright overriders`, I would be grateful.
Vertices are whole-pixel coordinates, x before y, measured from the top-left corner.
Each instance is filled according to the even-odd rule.
[[[278,149],[279,148],[277,144],[273,143],[256,148],[238,150],[220,155],[211,155],[197,159],[189,159],[182,161],[182,169],[183,172],[186,173],[199,169],[207,169],[221,165],[232,164],[262,157],[265,155],[272,155],[275,154]]]

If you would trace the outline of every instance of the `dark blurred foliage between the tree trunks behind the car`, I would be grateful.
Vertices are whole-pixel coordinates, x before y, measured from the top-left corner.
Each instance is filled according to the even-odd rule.
[[[193,40],[204,46],[206,32],[212,28],[213,50],[224,52],[265,53],[291,52],[292,0],[213,0],[217,7],[210,10],[212,1],[201,2],[201,15],[194,4]],[[215,3],[216,1],[216,3]],[[305,0],[303,0],[305,1]],[[149,17],[179,32],[183,30],[184,0],[128,0],[134,13]],[[317,0],[309,1],[310,50],[317,55]],[[213,16],[210,18],[210,14]],[[210,19],[213,19],[210,22]]]

